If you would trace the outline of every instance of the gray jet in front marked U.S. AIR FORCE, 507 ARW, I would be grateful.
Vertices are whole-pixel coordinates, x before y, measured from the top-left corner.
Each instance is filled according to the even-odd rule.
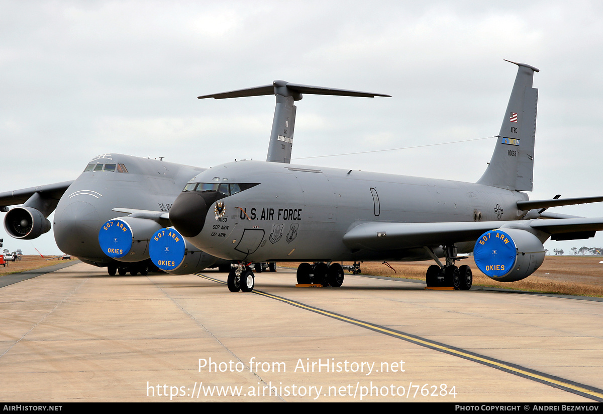
[[[469,289],[469,266],[455,262],[466,257],[459,253],[472,251],[490,278],[526,278],[542,264],[549,237],[589,238],[603,229],[603,218],[546,209],[603,197],[529,200],[523,193],[532,190],[538,96],[532,80],[538,69],[511,63],[519,67],[517,76],[494,153],[478,182],[230,162],[197,174],[185,186],[169,211],[175,229],[160,231],[171,237],[157,233],[150,249],[181,260],[183,249],[172,247],[183,236],[198,249],[231,260],[230,291],[253,290],[248,264],[259,261],[302,261],[299,283],[339,287],[344,272],[337,261],[434,260],[426,272],[428,286]]]

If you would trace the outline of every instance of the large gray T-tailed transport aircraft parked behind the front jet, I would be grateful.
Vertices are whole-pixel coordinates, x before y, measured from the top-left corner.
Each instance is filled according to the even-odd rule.
[[[274,81],[271,85],[206,97],[276,95],[267,161],[288,163],[297,110],[293,103],[301,99],[302,93],[388,96]],[[183,242],[183,256],[178,263],[166,264],[162,257],[154,261],[148,249],[151,236],[171,225],[168,211],[182,188],[204,170],[162,160],[101,154],[90,160],[75,180],[0,193],[0,211],[7,212],[4,228],[14,238],[37,238],[51,229],[48,216],[56,209],[53,224],[59,249],[85,263],[107,267],[109,275],[147,274],[157,268],[175,274],[207,267],[228,271],[230,260],[208,255],[189,243]],[[8,209],[18,204],[22,206]],[[256,263],[254,268],[261,271],[262,265]],[[274,263],[270,270],[274,271]]]

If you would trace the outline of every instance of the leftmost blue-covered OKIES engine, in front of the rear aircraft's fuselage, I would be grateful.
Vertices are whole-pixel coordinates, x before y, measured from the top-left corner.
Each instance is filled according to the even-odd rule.
[[[149,240],[160,228],[157,221],[148,218],[112,218],[98,232],[98,243],[103,253],[115,260],[139,262],[149,258]]]

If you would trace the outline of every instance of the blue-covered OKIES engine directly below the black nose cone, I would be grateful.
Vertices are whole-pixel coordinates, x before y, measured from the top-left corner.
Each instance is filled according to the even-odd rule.
[[[172,275],[190,275],[208,267],[230,267],[230,261],[202,252],[174,228],[155,232],[149,253],[155,266]]]

